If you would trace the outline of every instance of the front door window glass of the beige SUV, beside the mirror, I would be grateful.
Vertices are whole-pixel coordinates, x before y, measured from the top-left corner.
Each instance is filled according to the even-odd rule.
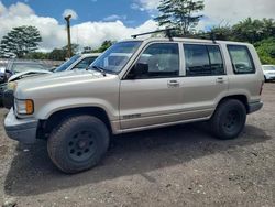
[[[151,44],[135,64],[143,67],[136,78],[165,78],[179,75],[179,48],[177,43]],[[145,68],[145,69],[144,69]],[[135,69],[131,69],[133,73]],[[136,73],[136,72],[135,72]]]

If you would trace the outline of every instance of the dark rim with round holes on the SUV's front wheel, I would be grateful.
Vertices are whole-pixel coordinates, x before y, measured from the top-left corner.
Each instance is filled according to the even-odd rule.
[[[67,142],[69,157],[75,162],[86,162],[97,150],[96,135],[92,131],[80,130],[74,133]]]

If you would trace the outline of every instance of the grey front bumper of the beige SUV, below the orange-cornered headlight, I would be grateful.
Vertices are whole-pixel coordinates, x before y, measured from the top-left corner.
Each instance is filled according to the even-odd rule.
[[[13,109],[4,119],[4,130],[9,138],[31,144],[36,141],[38,121],[34,119],[18,119]]]

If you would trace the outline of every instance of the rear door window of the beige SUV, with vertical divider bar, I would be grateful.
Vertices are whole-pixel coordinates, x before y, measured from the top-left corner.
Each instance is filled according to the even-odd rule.
[[[186,76],[224,75],[219,46],[184,44]]]

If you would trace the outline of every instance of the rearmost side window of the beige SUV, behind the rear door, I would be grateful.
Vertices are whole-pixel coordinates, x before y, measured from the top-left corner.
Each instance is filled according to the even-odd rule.
[[[232,66],[235,74],[254,74],[255,66],[246,46],[228,45]]]

